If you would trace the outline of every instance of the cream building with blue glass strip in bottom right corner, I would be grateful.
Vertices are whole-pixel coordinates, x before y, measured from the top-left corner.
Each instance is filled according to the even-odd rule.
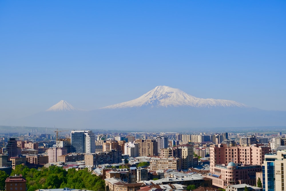
[[[262,164],[263,190],[281,191],[285,189],[284,166],[286,166],[286,150],[277,151],[277,155],[265,155]]]

